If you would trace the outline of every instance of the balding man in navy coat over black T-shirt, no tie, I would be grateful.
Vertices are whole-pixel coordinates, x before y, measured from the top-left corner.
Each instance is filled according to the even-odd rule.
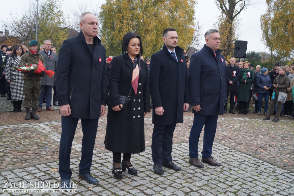
[[[90,168],[98,119],[105,112],[107,73],[105,47],[97,37],[97,25],[98,20],[93,14],[81,14],[81,32],[64,40],[59,51],[56,69],[56,98],[62,115],[59,174],[65,189],[71,184],[70,154],[79,118],[83,130],[79,178],[98,184],[91,176]]]

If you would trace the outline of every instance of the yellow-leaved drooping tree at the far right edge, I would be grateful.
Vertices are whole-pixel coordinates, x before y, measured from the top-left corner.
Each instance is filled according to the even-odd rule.
[[[294,58],[294,1],[266,0],[267,10],[260,17],[262,40],[272,54]]]

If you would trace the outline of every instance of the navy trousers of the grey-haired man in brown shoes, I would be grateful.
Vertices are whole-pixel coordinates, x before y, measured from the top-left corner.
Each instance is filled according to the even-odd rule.
[[[218,115],[201,115],[194,113],[194,121],[189,137],[189,157],[198,158],[198,142],[204,127],[202,158],[210,158],[214,136],[216,135],[216,124]]]

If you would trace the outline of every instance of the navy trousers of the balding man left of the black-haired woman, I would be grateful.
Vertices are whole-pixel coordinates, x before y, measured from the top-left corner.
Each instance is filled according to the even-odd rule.
[[[99,118],[95,119],[81,119],[83,139],[82,139],[82,157],[79,164],[79,172],[81,174],[90,174],[93,149],[95,145],[95,139],[97,134]],[[59,147],[59,174],[63,179],[71,178],[70,169],[70,156],[71,146],[76,133],[76,126],[78,124],[78,118],[72,118],[70,116],[61,117],[61,139]]]

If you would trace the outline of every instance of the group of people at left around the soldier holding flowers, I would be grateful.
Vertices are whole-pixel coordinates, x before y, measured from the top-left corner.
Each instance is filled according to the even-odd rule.
[[[13,104],[13,112],[22,112],[21,104],[24,101],[26,109],[26,120],[39,119],[36,111],[41,112],[43,103],[46,103],[46,110],[54,111],[51,108],[52,88],[56,95],[55,76],[49,77],[45,71],[34,73],[21,72],[13,69],[23,66],[38,65],[39,61],[45,67],[45,70],[56,71],[57,54],[56,48],[51,46],[50,40],[45,40],[38,51],[38,42],[32,40],[29,43],[29,49],[25,44],[16,44],[13,46],[2,45],[1,57],[2,66],[0,68],[0,90],[1,97],[7,94],[7,100]],[[53,95],[53,104],[58,106],[57,100]],[[1,106],[0,106],[1,107]],[[32,108],[32,110],[31,110]]]

